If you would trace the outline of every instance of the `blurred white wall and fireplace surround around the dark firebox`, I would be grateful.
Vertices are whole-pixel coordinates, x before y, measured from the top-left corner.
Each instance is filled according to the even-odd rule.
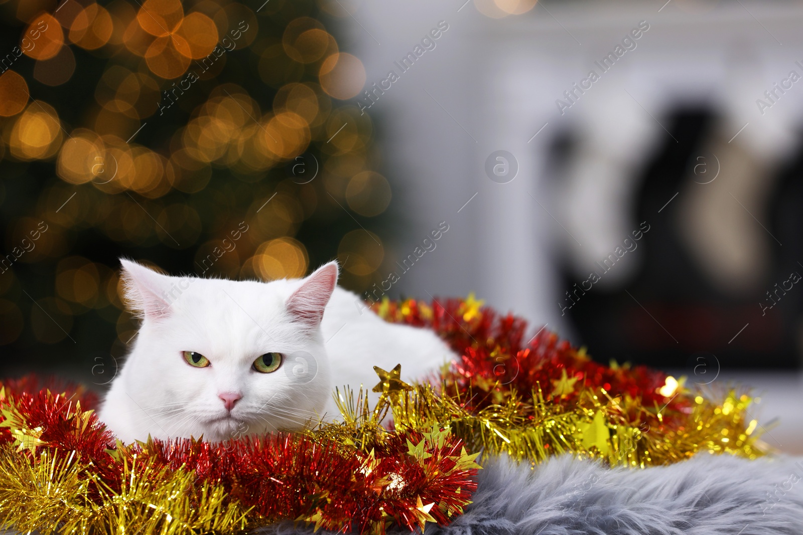
[[[638,229],[622,217],[632,170],[669,136],[662,114],[671,105],[715,105],[727,118],[722,136],[738,132],[733,144],[760,158],[788,150],[801,124],[803,83],[776,91],[772,107],[756,100],[766,101],[764,91],[784,84],[789,71],[803,75],[796,63],[803,63],[803,5],[561,0],[491,19],[472,2],[357,2],[344,19],[369,84],[396,70],[438,22],[449,26],[369,110],[393,202],[409,218],[397,255],[439,221],[450,225],[422,269],[400,283],[404,294],[475,290],[499,309],[569,334],[556,305],[565,289],[555,284],[554,258],[568,255],[582,273],[584,262]],[[609,53],[616,61],[603,63]],[[592,70],[598,79],[590,81]],[[580,134],[582,156],[556,191],[545,162],[551,140],[566,130]],[[485,171],[498,150],[518,162],[506,184]]]

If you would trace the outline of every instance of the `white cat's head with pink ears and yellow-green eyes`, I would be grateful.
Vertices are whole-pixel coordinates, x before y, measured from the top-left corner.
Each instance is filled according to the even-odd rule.
[[[116,379],[137,439],[225,440],[323,415],[332,386],[320,322],[336,262],[273,282],[168,277],[121,263],[126,301],[142,320]]]

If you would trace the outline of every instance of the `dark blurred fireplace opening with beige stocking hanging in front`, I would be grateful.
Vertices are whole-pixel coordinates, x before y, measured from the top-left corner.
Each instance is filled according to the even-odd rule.
[[[576,301],[566,311],[578,334],[603,362],[799,368],[803,152],[780,169],[766,168],[720,139],[707,108],[679,109],[665,124],[671,136],[638,172],[632,213],[623,214],[639,222],[639,232],[648,230],[594,266],[604,280],[605,270],[621,269],[618,261],[633,261],[630,249],[642,249],[635,273],[605,290],[565,270]],[[730,180],[724,191],[717,189],[724,180],[715,181],[720,174]],[[740,221],[709,193],[741,206]]]

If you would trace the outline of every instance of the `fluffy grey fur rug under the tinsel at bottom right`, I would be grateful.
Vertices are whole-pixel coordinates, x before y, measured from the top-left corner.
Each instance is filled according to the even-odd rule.
[[[803,534],[803,458],[706,453],[643,470],[571,456],[532,470],[507,458],[483,464],[466,513],[446,527],[427,524],[426,535]],[[259,533],[312,528],[283,523]]]

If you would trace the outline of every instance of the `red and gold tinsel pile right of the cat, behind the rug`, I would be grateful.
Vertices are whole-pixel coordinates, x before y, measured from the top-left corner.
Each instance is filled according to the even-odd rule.
[[[373,310],[389,322],[435,330],[459,355],[436,386],[395,387],[403,394],[389,399],[398,429],[449,427],[471,451],[533,464],[565,452],[643,468],[698,452],[753,459],[768,451],[746,393],[692,391],[685,378],[594,363],[549,331],[528,337],[524,320],[483,307],[473,294],[431,303],[385,299]]]

